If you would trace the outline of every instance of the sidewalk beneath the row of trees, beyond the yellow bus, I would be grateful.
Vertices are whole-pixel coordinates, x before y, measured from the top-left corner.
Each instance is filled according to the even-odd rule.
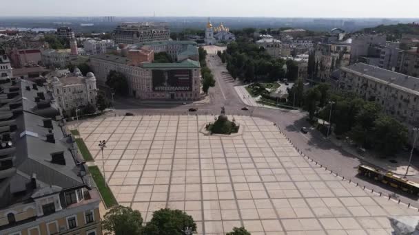
[[[358,151],[349,145],[349,143],[343,142],[340,139],[336,139],[334,135],[331,135],[329,137],[330,142],[335,144],[336,146],[339,146],[340,148],[343,148],[343,150],[347,151],[351,155],[354,155],[358,157],[358,159],[361,159],[362,161],[367,161],[369,164],[378,166],[378,168],[382,168],[384,170],[388,170],[389,172],[392,172],[396,175],[405,175],[407,165],[409,164],[409,157],[403,156],[403,154],[398,154],[395,157],[380,159],[378,157],[374,157],[369,153],[368,151],[365,153],[358,153]],[[395,160],[396,162],[391,162],[389,160]],[[407,174],[408,176],[415,176],[419,175],[419,170],[416,169],[414,166],[410,166],[409,172]]]

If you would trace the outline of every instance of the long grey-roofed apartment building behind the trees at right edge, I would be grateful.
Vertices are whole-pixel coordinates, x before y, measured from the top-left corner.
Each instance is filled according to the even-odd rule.
[[[337,89],[375,101],[407,126],[419,124],[419,78],[364,63],[340,68]]]

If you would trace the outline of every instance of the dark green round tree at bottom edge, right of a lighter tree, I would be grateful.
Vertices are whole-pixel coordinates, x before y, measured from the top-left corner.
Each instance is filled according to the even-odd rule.
[[[196,232],[196,223],[192,216],[181,210],[161,209],[153,213],[153,217],[144,227],[147,235],[183,235],[186,227]]]

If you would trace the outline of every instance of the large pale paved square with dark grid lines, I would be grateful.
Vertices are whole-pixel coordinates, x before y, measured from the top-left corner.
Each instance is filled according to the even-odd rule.
[[[230,120],[232,117],[230,117]],[[128,116],[83,122],[81,137],[122,205],[145,221],[184,210],[199,234],[391,234],[388,215],[418,215],[298,154],[272,122],[236,116],[243,135],[207,136],[214,116]]]

